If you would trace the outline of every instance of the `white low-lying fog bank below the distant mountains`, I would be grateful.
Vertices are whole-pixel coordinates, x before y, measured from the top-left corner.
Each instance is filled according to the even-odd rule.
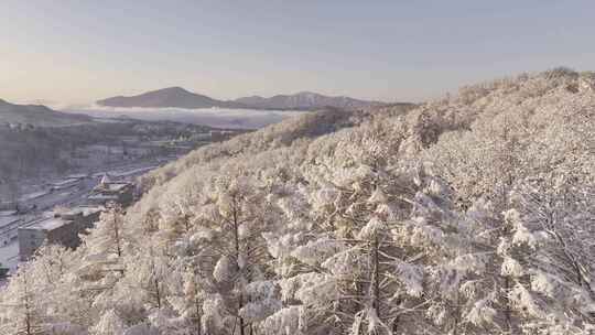
[[[257,109],[182,109],[182,108],[107,108],[90,107],[63,111],[86,114],[96,118],[129,117],[139,120],[169,120],[205,125],[217,128],[257,129],[304,111],[257,110]]]

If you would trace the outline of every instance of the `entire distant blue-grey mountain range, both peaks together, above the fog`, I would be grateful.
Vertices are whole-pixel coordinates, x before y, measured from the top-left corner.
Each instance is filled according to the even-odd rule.
[[[323,107],[358,109],[385,105],[379,101],[358,100],[349,97],[328,97],[316,93],[302,91],[294,95],[277,95],[271,98],[251,96],[231,101],[213,99],[191,93],[181,87],[170,87],[131,97],[113,97],[97,101],[107,107],[148,107],[148,108],[250,108],[278,110],[315,110]]]

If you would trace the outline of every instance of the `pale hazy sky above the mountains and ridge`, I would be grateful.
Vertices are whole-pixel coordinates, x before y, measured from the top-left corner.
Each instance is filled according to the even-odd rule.
[[[419,101],[520,72],[595,69],[594,14],[587,0],[3,0],[0,98],[182,86]]]

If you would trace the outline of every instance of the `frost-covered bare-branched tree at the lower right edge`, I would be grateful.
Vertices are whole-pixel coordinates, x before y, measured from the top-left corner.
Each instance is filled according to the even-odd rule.
[[[507,212],[513,231],[504,246],[515,287],[509,299],[531,316],[522,326],[542,334],[593,329],[595,202],[593,186],[564,175],[520,184]]]

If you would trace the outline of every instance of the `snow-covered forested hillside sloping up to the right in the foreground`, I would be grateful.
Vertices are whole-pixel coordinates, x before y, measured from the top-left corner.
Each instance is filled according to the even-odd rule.
[[[142,179],[0,334],[593,334],[595,75],[326,110]]]

